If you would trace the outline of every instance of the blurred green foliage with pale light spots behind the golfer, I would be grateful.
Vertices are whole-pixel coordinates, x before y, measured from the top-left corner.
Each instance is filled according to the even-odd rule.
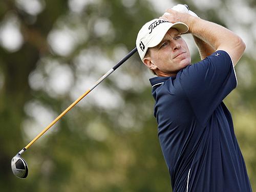
[[[152,77],[136,53],[75,106],[23,158],[10,161],[58,114],[135,47],[138,30],[176,4],[239,34],[247,48],[233,116],[256,190],[256,2],[253,0],[0,1],[1,191],[172,191],[153,117]],[[190,35],[184,37],[199,60]]]

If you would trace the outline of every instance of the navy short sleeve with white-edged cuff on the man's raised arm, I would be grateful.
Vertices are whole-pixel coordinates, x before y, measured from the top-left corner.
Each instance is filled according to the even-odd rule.
[[[197,119],[204,125],[222,100],[237,86],[233,63],[225,51],[216,51],[185,68],[180,83]]]

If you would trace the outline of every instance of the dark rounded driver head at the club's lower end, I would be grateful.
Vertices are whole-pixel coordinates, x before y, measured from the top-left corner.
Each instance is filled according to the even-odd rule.
[[[25,179],[28,176],[28,164],[19,154],[12,158],[11,166],[12,172],[16,177]]]

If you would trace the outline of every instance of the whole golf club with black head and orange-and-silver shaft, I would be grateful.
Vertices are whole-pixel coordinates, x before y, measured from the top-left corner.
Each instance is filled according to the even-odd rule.
[[[65,111],[63,111],[58,117],[56,117],[41,133],[39,133],[27,146],[25,146],[20,152],[17,153],[11,160],[11,167],[13,174],[18,177],[25,179],[28,176],[29,169],[26,161],[21,157],[21,155],[39,138],[41,137],[47,130],[50,129],[61,117],[63,117],[68,111],[70,111],[73,106],[75,106],[83,97],[88,95],[95,87],[98,86],[106,77],[108,77],[111,73],[113,73],[118,67],[120,67],[127,59],[129,59],[134,53],[137,52],[137,48],[135,47],[130,53],[128,53],[124,58],[122,58],[112,69],[106,72],[99,80],[97,80],[93,86],[87,90],[84,94],[82,94],[77,100],[75,100]]]

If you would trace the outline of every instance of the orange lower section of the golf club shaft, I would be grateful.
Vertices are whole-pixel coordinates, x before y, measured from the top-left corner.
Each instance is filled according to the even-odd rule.
[[[83,97],[85,97],[88,93],[90,93],[91,90],[87,90],[86,93],[81,95],[78,99],[76,99],[65,111],[63,111],[56,119],[54,119],[44,130],[41,131],[27,146],[25,146],[26,150],[32,145],[39,137],[42,136],[47,130],[51,128],[52,125],[54,125],[61,117],[63,117],[66,113],[68,113],[73,106],[75,106]]]

